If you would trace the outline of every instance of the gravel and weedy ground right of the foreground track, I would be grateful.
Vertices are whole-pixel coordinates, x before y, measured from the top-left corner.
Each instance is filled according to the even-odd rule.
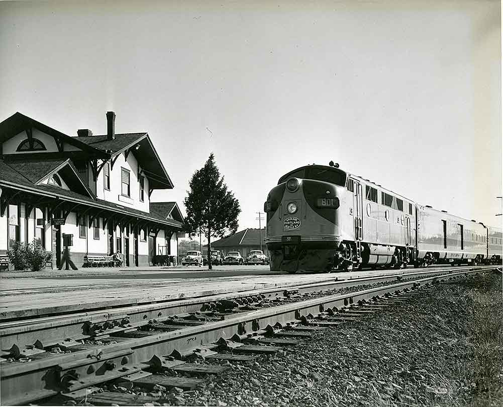
[[[178,405],[502,405],[501,274],[439,284],[295,348],[233,363]],[[490,312],[488,312],[490,310]],[[222,362],[223,365],[226,362]]]

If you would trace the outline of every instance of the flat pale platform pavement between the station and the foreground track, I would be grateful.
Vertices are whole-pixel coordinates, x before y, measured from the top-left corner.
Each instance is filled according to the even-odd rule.
[[[18,275],[0,279],[0,320],[383,276],[397,271],[289,275],[271,272],[269,266],[218,266],[211,272],[201,267],[171,266],[101,269],[99,275],[93,276],[71,271],[58,271],[61,275],[54,276]]]

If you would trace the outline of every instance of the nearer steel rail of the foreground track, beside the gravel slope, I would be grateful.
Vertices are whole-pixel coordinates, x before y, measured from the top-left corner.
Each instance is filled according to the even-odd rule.
[[[26,363],[3,364],[0,401],[3,404],[22,404],[60,391],[83,388],[138,372],[145,367],[142,364],[154,356],[162,357],[174,352],[187,354],[205,344],[215,343],[220,338],[228,339],[235,334],[242,335],[250,331],[258,331],[278,322],[284,324],[298,321],[302,316],[317,314],[328,308],[342,308],[386,293],[485,271],[488,269],[463,270],[344,295],[329,295],[249,311],[196,327],[131,338],[124,342],[93,347],[72,354],[51,355]]]

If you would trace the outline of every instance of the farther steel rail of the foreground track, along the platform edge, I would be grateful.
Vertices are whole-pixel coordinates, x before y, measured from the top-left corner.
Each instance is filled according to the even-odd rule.
[[[400,278],[451,273],[453,270],[462,271],[464,269],[473,269],[473,267],[430,269],[421,272],[402,272],[392,275],[380,275],[350,280],[339,280],[337,275],[334,275],[336,280],[318,283],[301,283],[288,287],[255,289],[186,300],[166,301],[78,314],[3,322],[0,323],[0,349],[8,351],[13,346],[17,346],[18,349],[22,350],[26,347],[33,346],[37,341],[44,348],[56,346],[67,338],[78,341],[97,336],[94,332],[97,327],[100,326],[102,327],[102,329],[100,329],[101,334],[114,333],[120,330],[141,326],[148,320],[162,319],[176,314],[197,312],[201,310],[201,307],[205,303],[217,302],[229,298],[240,299],[257,295],[265,295],[271,298],[283,296],[284,293],[292,291],[304,294],[318,290],[330,290],[359,284],[389,282]],[[481,269],[484,269],[484,267]]]

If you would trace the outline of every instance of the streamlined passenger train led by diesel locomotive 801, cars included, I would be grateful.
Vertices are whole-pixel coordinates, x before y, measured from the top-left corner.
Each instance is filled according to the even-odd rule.
[[[264,212],[271,270],[501,263],[501,228],[420,205],[333,162],[283,175]]]

